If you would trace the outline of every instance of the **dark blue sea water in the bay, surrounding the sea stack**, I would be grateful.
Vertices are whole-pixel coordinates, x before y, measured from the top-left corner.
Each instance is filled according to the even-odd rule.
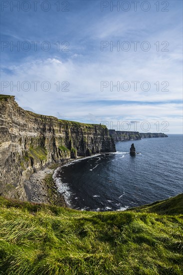
[[[128,153],[133,142],[136,156]],[[116,150],[57,169],[57,186],[72,208],[123,210],[183,192],[183,135],[117,142]]]

